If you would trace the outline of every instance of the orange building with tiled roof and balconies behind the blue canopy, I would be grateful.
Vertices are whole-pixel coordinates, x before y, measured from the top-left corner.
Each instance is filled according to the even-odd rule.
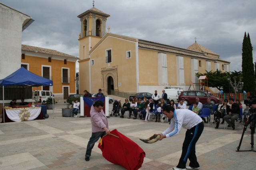
[[[76,94],[76,61],[78,57],[52,49],[22,45],[21,65],[27,70],[53,81],[53,94],[58,102]],[[52,90],[41,86],[38,90]],[[36,90],[33,87],[33,90]]]

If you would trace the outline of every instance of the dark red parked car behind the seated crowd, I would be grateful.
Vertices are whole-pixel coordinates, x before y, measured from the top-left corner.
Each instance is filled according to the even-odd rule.
[[[184,103],[188,106],[189,104],[194,104],[194,102],[196,102],[196,97],[199,98],[202,104],[206,103],[207,98],[211,99],[212,104],[216,104],[219,102],[219,99],[215,96],[210,96],[209,94],[206,94],[205,92],[199,90],[188,90],[181,92],[179,96],[179,101],[184,98]]]

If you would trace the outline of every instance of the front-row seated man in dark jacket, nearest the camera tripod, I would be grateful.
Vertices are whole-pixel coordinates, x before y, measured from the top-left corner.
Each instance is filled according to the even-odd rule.
[[[231,109],[223,119],[228,123],[228,127],[232,127],[235,130],[235,120],[240,117],[240,106],[235,103],[233,98],[229,99],[229,103],[231,104]]]

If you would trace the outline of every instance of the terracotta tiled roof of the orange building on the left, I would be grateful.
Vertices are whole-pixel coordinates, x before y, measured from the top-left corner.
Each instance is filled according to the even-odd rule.
[[[60,57],[71,57],[77,60],[80,60],[79,57],[76,56],[72,56],[72,55],[68,55],[56,50],[52,50],[52,49],[45,49],[45,48],[41,48],[41,47],[34,47],[34,46],[30,46],[30,45],[23,45],[21,46],[21,50],[22,51],[29,51],[29,52],[33,52],[33,53],[43,53],[43,54],[49,54],[49,55],[56,55],[56,56],[60,56]]]

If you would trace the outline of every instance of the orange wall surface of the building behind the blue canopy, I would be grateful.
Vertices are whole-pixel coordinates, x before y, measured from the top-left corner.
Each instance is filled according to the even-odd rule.
[[[67,60],[64,64],[63,60],[54,60],[48,62],[48,58],[34,57],[25,55],[25,59],[21,59],[21,63],[29,64],[29,71],[42,76],[42,65],[51,66],[51,76],[53,81],[53,92],[62,93],[62,86],[70,86],[70,93],[76,93],[75,74],[76,63]],[[62,83],[62,67],[69,68],[70,83]],[[34,88],[33,90],[36,90]],[[42,87],[38,87],[42,90]]]

